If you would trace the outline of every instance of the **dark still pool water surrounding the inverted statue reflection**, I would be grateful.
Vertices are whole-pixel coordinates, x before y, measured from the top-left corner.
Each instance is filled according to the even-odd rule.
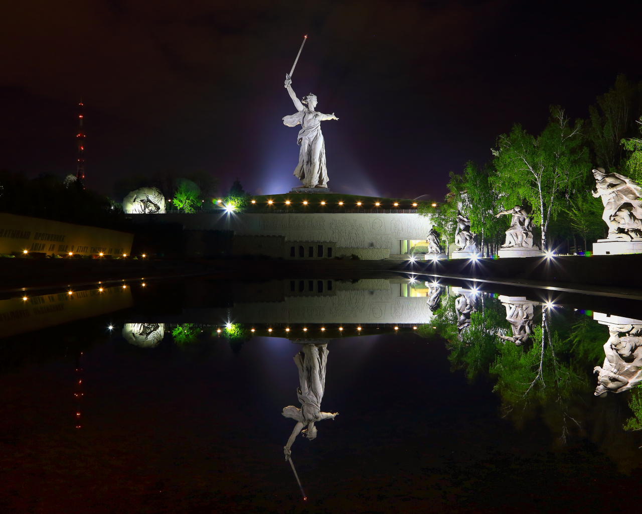
[[[524,292],[511,304],[488,285],[440,289],[433,314],[424,283],[359,284],[328,290],[324,279],[319,292],[315,279],[300,292],[298,280],[294,290],[290,281],[199,280],[112,288],[108,305],[92,303],[107,292],[93,288],[4,300],[13,302],[6,312],[19,301],[31,310],[0,339],[0,511],[639,507],[642,438],[629,407],[637,350],[618,368],[629,382],[609,383],[604,397],[593,374],[605,366],[609,329],[636,337],[638,320],[612,314],[607,323]],[[528,333],[522,346],[497,335],[516,333],[507,304],[530,317],[517,323]],[[542,353],[543,321],[551,341],[545,334]],[[142,323],[146,342],[123,337]],[[300,407],[293,356],[302,344],[327,344],[321,406],[340,413],[291,448],[305,502],[283,455],[295,421],[281,415]]]

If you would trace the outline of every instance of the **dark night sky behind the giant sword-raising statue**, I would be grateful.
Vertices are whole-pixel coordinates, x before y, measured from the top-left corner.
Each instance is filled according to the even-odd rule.
[[[548,106],[587,118],[619,73],[642,79],[641,7],[618,1],[11,1],[0,16],[0,168],[86,184],[173,168],[299,186],[283,87],[318,96],[331,190],[441,199]]]

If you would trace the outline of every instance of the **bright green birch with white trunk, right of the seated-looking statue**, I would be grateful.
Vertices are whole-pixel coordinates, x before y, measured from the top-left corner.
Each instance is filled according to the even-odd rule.
[[[551,107],[551,118],[539,137],[521,125],[498,137],[493,150],[497,170],[491,183],[510,208],[526,199],[533,207],[535,225],[541,227],[542,250],[547,248],[548,224],[557,217],[572,191],[586,181],[588,152],[582,136],[582,120],[570,127],[564,110]]]

